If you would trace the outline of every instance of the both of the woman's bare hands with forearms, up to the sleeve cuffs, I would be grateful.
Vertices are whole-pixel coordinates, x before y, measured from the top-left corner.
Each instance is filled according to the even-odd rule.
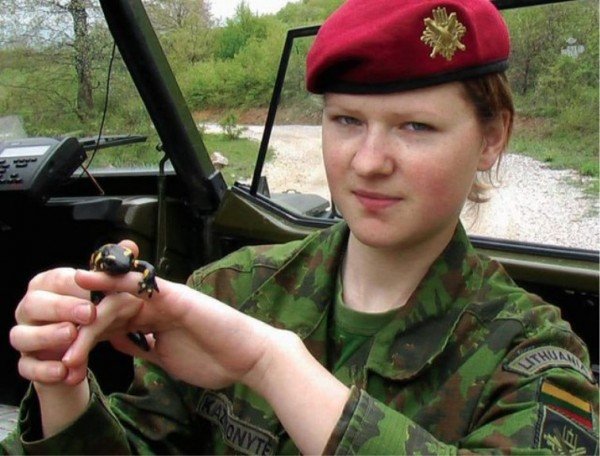
[[[137,252],[135,245],[127,247]],[[17,309],[11,341],[22,353],[22,375],[41,382],[36,388],[40,385],[42,391],[38,389],[46,436],[85,410],[89,390],[81,380],[88,354],[98,341],[109,340],[118,350],[153,362],[192,385],[218,389],[246,384],[273,406],[303,452],[322,451],[348,388],[295,334],[160,278],[159,293],[138,294],[140,278],[138,272],[109,276],[62,269],[32,280]],[[96,307],[89,301],[91,290],[106,295]],[[66,335],[60,336],[63,332]],[[151,350],[132,343],[129,332],[146,334]],[[64,412],[65,404],[69,413]]]

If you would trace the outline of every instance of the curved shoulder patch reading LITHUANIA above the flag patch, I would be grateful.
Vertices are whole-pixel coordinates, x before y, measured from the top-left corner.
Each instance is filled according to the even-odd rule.
[[[568,350],[546,345],[529,349],[505,364],[505,370],[522,375],[533,375],[551,367],[571,368],[590,382],[594,382],[592,371]]]

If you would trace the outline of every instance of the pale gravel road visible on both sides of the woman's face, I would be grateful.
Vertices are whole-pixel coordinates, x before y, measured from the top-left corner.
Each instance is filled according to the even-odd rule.
[[[218,131],[208,126],[207,131]],[[247,126],[243,136],[260,140],[262,126]],[[272,192],[297,191],[329,199],[321,158],[321,128],[277,126],[270,146],[275,157],[264,169]],[[463,211],[471,234],[597,250],[600,248],[598,199],[586,195],[585,178],[572,170],[553,170],[529,157],[506,154],[490,201],[478,211]],[[475,215],[476,214],[476,215]]]

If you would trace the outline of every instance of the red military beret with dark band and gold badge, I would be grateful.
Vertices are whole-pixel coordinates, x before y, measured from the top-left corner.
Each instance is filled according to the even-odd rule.
[[[389,93],[504,71],[510,38],[490,0],[347,0],[307,57],[310,92]]]

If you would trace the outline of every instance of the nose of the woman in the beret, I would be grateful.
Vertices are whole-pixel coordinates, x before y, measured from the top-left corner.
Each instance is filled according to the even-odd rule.
[[[394,171],[393,149],[385,131],[369,129],[352,158],[352,168],[362,177],[387,176]]]

